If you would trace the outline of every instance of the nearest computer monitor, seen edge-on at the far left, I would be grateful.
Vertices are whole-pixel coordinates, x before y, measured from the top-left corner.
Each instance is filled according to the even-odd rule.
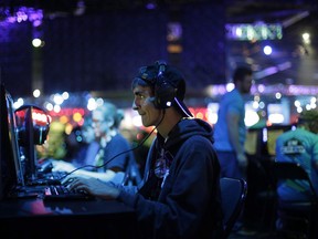
[[[20,160],[13,100],[2,83],[0,94],[0,199],[2,200],[13,187],[24,186],[24,177]]]

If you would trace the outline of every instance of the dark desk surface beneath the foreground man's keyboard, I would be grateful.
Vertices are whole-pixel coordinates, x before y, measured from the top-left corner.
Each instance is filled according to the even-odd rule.
[[[135,211],[119,201],[0,201],[1,235],[23,238],[138,238]]]

